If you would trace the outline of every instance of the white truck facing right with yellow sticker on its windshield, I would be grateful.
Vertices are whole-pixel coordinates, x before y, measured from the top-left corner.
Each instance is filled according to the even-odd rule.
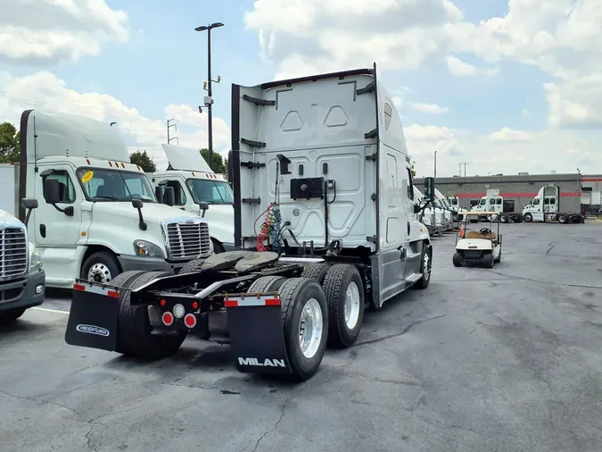
[[[107,283],[128,270],[173,273],[212,253],[207,222],[157,203],[116,129],[63,113],[21,115],[17,191],[5,196],[39,199],[29,240],[48,287],[71,288],[76,278]],[[22,208],[13,214],[24,218]]]

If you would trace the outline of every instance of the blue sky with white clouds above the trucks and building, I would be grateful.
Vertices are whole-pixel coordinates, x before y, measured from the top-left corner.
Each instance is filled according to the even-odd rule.
[[[0,121],[53,108],[117,121],[159,163],[165,121],[230,146],[230,84],[370,67],[395,95],[419,176],[602,172],[599,0],[0,0]]]

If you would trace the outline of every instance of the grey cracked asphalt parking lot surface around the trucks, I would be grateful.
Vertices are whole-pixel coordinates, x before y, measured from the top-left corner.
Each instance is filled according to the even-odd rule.
[[[433,239],[430,287],[300,385],[196,339],[153,364],[69,347],[51,293],[0,331],[2,450],[599,450],[602,222],[501,228],[491,270]]]

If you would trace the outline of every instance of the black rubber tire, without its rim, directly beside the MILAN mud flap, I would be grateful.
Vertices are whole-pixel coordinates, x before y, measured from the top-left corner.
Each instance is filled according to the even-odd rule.
[[[313,376],[326,352],[326,340],[328,336],[328,305],[324,290],[315,280],[308,278],[291,278],[278,290],[280,303],[282,304],[282,324],[285,332],[285,347],[291,370],[292,380],[305,381]],[[322,334],[316,354],[306,357],[301,351],[300,324],[301,313],[310,298],[317,300],[322,312]]]

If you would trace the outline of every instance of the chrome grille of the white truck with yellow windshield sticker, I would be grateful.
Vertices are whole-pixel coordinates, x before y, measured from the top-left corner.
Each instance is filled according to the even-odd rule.
[[[169,223],[167,229],[172,259],[196,259],[210,254],[209,225],[206,222]]]

